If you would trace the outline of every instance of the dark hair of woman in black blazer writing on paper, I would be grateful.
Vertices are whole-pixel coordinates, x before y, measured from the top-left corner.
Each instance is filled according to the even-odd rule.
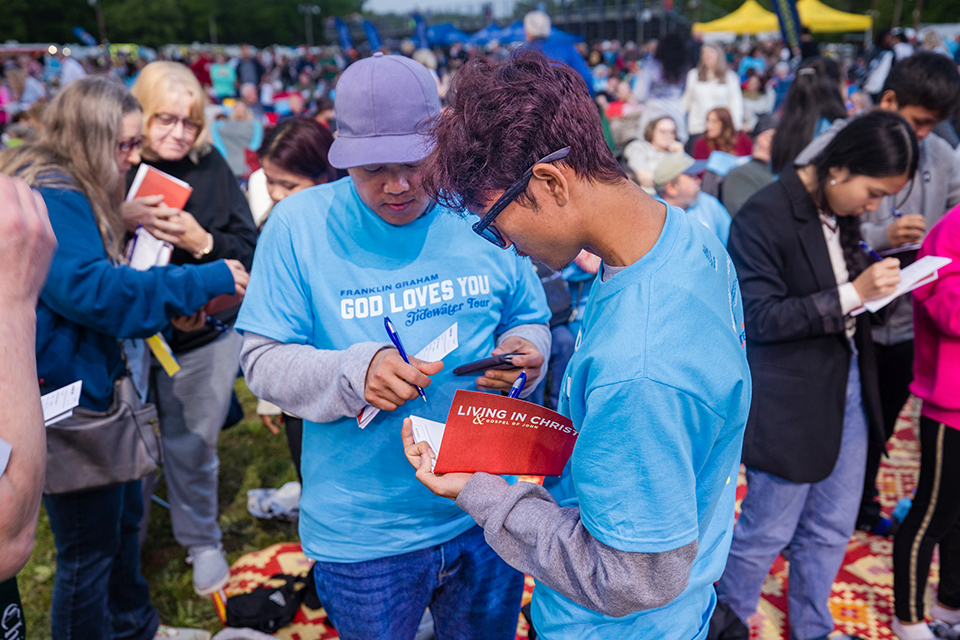
[[[905,173],[912,179],[919,157],[917,137],[906,120],[890,111],[871,111],[852,119],[810,163],[817,170],[813,200],[821,210],[827,209],[823,194],[831,169],[847,169],[851,176],[871,178]],[[853,280],[866,267],[858,245],[860,221],[853,216],[837,216],[837,226],[844,261]]]

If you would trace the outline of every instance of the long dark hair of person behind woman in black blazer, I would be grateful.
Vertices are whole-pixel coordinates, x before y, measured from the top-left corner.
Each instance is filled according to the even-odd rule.
[[[840,95],[840,69],[829,58],[812,58],[797,69],[770,148],[770,166],[780,173],[810,144],[821,118],[847,117]]]

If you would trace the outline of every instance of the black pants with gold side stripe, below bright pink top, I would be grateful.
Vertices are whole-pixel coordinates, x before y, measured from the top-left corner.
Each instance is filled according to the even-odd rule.
[[[923,621],[923,594],[936,545],[937,600],[960,609],[960,431],[921,416],[917,496],[893,542],[894,611],[903,622]]]

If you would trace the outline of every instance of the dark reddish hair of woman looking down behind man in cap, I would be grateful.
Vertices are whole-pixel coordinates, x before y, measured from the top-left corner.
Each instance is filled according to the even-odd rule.
[[[321,184],[339,177],[327,160],[332,144],[330,129],[313,118],[288,118],[264,137],[257,156],[260,162],[269,160],[284,171]]]

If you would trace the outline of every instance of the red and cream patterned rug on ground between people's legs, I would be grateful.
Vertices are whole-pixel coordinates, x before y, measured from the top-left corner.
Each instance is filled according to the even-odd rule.
[[[890,441],[890,457],[883,461],[877,481],[884,515],[889,517],[897,500],[914,490],[920,468],[920,448],[915,436],[917,424],[908,403]],[[737,486],[737,510],[746,495],[743,473]],[[895,640],[890,632],[893,613],[893,569],[890,554],[893,541],[858,531],[847,548],[847,556],[833,585],[830,608],[837,621],[837,631],[863,636],[867,640]],[[272,575],[285,573],[305,575],[311,562],[303,555],[299,543],[277,544],[262,551],[250,553],[231,567],[228,596],[247,593]],[[788,640],[787,620],[788,563],[777,558],[763,585],[763,597],[757,613],[750,619],[751,638]],[[936,556],[930,583],[938,580]],[[523,603],[530,601],[533,579],[527,576]],[[929,599],[929,593],[928,593]],[[275,634],[284,640],[333,640],[337,632],[330,625],[323,610],[312,611],[301,607],[293,623]],[[517,640],[527,638],[527,624],[520,617]]]

